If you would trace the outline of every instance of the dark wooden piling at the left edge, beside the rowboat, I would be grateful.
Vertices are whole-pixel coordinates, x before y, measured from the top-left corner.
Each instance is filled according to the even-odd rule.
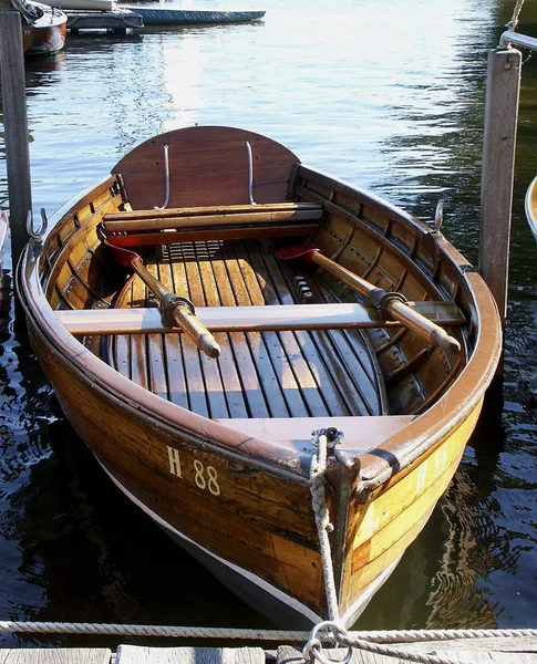
[[[0,76],[14,266],[28,240],[25,224],[32,209],[22,27],[17,11],[0,11]]]

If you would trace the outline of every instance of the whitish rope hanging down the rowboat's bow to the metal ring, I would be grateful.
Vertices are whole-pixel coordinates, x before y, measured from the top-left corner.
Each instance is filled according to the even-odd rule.
[[[333,578],[332,552],[328,533],[333,530],[330,522],[327,501],[324,499],[324,473],[327,470],[328,437],[321,429],[313,432],[312,442],[317,445],[317,454],[311,457],[310,480],[311,500],[316,516],[317,535],[321,552],[322,572],[324,575],[324,592],[327,594],[328,615],[331,621],[339,621],[339,602]]]

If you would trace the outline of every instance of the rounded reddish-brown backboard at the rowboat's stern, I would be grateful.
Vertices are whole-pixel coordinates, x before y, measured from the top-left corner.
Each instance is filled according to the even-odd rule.
[[[254,154],[254,199],[285,200],[299,159],[259,134],[229,127],[190,127],[162,134],[133,149],[113,173],[121,173],[133,209],[161,206],[165,197],[163,146],[168,145],[168,207],[248,204],[245,141],[250,142]]]

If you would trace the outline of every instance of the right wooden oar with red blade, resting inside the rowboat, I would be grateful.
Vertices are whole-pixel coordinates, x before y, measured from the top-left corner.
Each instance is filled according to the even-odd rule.
[[[433,323],[433,321],[430,321],[414,311],[402,301],[402,299],[397,299],[399,294],[388,293],[383,289],[380,289],[358,274],[354,274],[354,272],[351,272],[347,268],[343,268],[323,256],[317,247],[309,243],[300,245],[298,247],[281,247],[276,253],[278,258],[282,260],[301,258],[302,260],[320,266],[343,281],[343,283],[347,283],[352,290],[361,295],[370,298],[372,303],[380,303],[381,308],[389,315],[403,323],[403,325],[416,334],[425,338],[430,343],[433,343],[445,351],[450,351],[451,353],[461,352],[461,344],[456,339],[450,336],[445,330],[440,325],[436,325],[436,323]]]

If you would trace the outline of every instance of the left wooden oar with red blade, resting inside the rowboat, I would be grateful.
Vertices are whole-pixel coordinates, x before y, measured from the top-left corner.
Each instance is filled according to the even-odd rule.
[[[158,309],[164,320],[168,320],[171,325],[180,328],[197,347],[209,357],[218,357],[220,346],[215,341],[213,334],[196,318],[192,304],[185,298],[179,298],[175,293],[168,292],[164,286],[147,271],[144,261],[135,252],[121,247],[115,247],[104,237],[102,241],[114,251],[117,262],[125,268],[132,268],[142,281],[147,286],[151,292],[158,301]]]

